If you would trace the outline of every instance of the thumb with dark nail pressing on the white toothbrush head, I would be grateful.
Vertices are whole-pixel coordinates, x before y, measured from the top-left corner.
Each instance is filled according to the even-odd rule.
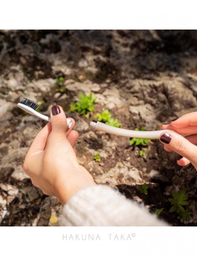
[[[63,109],[58,105],[51,108],[51,126],[52,133],[55,133],[57,136],[66,137],[67,119]]]

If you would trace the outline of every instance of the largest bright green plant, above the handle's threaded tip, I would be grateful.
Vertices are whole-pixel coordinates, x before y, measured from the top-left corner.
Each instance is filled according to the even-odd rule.
[[[88,96],[79,93],[79,101],[75,104],[70,104],[70,111],[74,112],[77,111],[81,115],[84,114],[86,111],[94,111],[93,105],[96,103],[96,98],[92,98],[92,93],[90,93]]]

